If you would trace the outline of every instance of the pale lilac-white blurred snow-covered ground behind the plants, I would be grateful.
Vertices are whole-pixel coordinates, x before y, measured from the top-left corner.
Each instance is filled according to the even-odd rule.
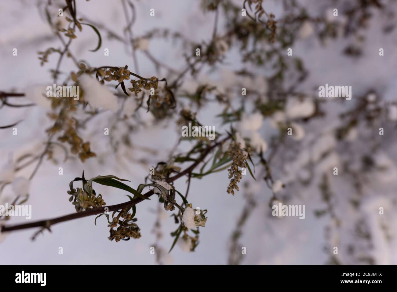
[[[39,65],[37,52],[45,50],[49,46],[60,46],[50,31],[43,17],[42,11],[37,10],[36,1],[3,0],[0,3],[0,64],[2,68],[0,78],[0,90],[25,92],[27,99],[35,101],[35,88],[37,85],[52,85],[50,68],[54,68],[57,58],[52,56],[45,66]],[[109,29],[122,33],[125,27],[123,11],[118,1],[91,0],[77,1],[78,10],[82,17],[89,19],[100,19],[106,23]],[[241,1],[242,2],[242,1]],[[309,11],[314,14],[325,11],[328,2],[332,1],[306,1]],[[274,5],[274,4],[270,4]],[[277,5],[269,9],[276,15],[280,11]],[[330,8],[334,6],[331,5]],[[198,1],[195,0],[166,0],[139,1],[136,4],[137,22],[133,27],[135,35],[145,33],[154,27],[170,28],[181,32],[190,38],[197,40],[209,40],[212,34],[213,14],[202,14]],[[155,8],[156,17],[149,16],[150,8]],[[273,9],[272,9],[273,8]],[[397,10],[395,10],[397,11]],[[330,85],[351,85],[354,97],[363,95],[368,89],[376,89],[385,100],[396,100],[397,89],[397,30],[384,35],[380,33],[383,25],[383,16],[374,11],[370,27],[366,30],[366,40],[362,44],[363,54],[360,58],[348,58],[342,54],[343,48],[351,39],[343,38],[330,40],[326,46],[321,45],[315,37],[307,37],[297,41],[293,47],[293,54],[304,60],[310,75],[301,86],[302,90],[313,93],[319,85],[329,83]],[[131,54],[117,41],[109,41],[106,33],[102,33],[102,47],[98,52],[89,52],[96,43],[96,35],[91,29],[85,27],[79,33],[76,43],[71,46],[71,51],[79,60],[87,60],[91,66],[114,65],[124,66],[132,64]],[[12,55],[12,49],[17,48],[17,56]],[[109,48],[110,56],[103,55],[103,48]],[[385,56],[379,56],[379,48],[384,48]],[[156,58],[163,60],[175,69],[184,67],[180,57],[180,47],[172,42],[153,41],[150,42],[148,50]],[[222,79],[222,72],[227,74],[231,70],[238,69],[236,64],[236,52],[229,54],[224,71],[218,74],[200,75],[201,81]],[[154,66],[141,53],[137,52],[139,60],[140,75],[152,76]],[[73,62],[64,60],[62,65],[64,72],[75,70]],[[132,67],[129,66],[131,69]],[[162,76],[159,76],[160,78]],[[63,78],[61,77],[61,80]],[[192,81],[193,82],[193,81]],[[256,84],[254,86],[266,86]],[[346,103],[345,103],[346,104]],[[345,105],[343,105],[345,106]],[[336,120],[338,108],[329,108],[329,114],[321,122],[309,124],[306,133],[310,135],[326,133]],[[340,110],[340,108],[339,108]],[[50,125],[46,117],[46,105],[29,108],[3,108],[0,110],[0,125],[23,119],[18,126],[18,135],[12,135],[11,129],[0,130],[0,167],[7,164],[10,155],[19,157],[23,153],[36,151],[43,147],[46,141],[45,129]],[[200,113],[200,120],[205,120],[208,125],[220,124],[215,118],[218,108],[213,104]],[[134,149],[121,148],[118,155],[110,151],[109,137],[104,136],[102,129],[109,126],[111,114],[104,113],[101,118],[91,121],[90,128],[82,134],[85,139],[91,141],[91,147],[97,153],[98,159],[87,160],[84,164],[78,160],[62,163],[62,151],[58,155],[58,163],[54,164],[44,161],[37,175],[31,182],[30,197],[28,203],[32,205],[32,219],[40,220],[60,215],[73,213],[75,210],[67,201],[69,182],[81,175],[84,170],[86,177],[96,175],[113,174],[121,178],[131,180],[132,187],[143,182],[148,170],[140,164],[132,162],[134,159],[146,157],[145,152]],[[147,123],[152,122],[149,114],[141,117]],[[264,137],[272,131],[268,122],[261,129]],[[150,157],[149,164],[168,159],[168,153],[178,138],[175,123],[169,121],[154,125],[150,130],[134,133],[132,137],[135,145],[148,146],[161,149],[157,156]],[[393,133],[386,133],[395,137]],[[390,138],[391,139],[391,138]],[[394,138],[393,138],[394,139]],[[395,141],[395,139],[393,140]],[[312,155],[316,149],[310,149],[309,142],[301,144],[301,159],[304,155]],[[329,143],[326,141],[324,143]],[[328,145],[328,144],[327,144]],[[185,145],[188,147],[189,145]],[[365,147],[363,145],[362,147]],[[183,149],[183,146],[181,147]],[[186,148],[187,149],[187,148]],[[347,242],[355,244],[353,222],[359,218],[367,220],[372,234],[372,247],[369,253],[376,259],[376,263],[397,263],[397,241],[392,237],[386,240],[380,228],[376,214],[378,207],[384,206],[387,224],[391,234],[397,231],[396,216],[391,214],[395,208],[396,182],[397,178],[394,161],[397,151],[391,147],[382,149],[384,161],[392,170],[389,177],[383,181],[385,175],[379,178],[374,176],[375,181],[365,190],[365,197],[359,211],[353,211],[345,204],[353,188],[344,182],[343,174],[335,180],[333,189],[336,193],[336,212],[343,218],[343,228],[338,234],[337,242],[345,245]],[[306,151],[306,152],[305,152]],[[339,151],[343,152],[344,150]],[[310,159],[310,158],[309,158]],[[294,160],[295,161],[295,160]],[[296,161],[295,161],[296,162]],[[292,163],[292,162],[291,162]],[[295,165],[299,163],[296,162]],[[63,167],[64,173],[58,175],[58,168]],[[4,168],[3,168],[4,170]],[[15,174],[15,176],[29,177],[31,168],[27,168]],[[394,172],[393,172],[394,170]],[[251,180],[251,177],[247,176]],[[225,264],[229,252],[229,240],[231,232],[239,217],[245,200],[240,191],[235,196],[225,192],[229,180],[225,172],[214,173],[202,178],[192,180],[189,192],[189,201],[195,207],[208,209],[208,221],[205,228],[200,231],[200,244],[195,252],[186,253],[176,246],[167,258],[167,263],[174,264]],[[183,179],[175,182],[177,190],[183,192],[186,188]],[[243,264],[324,264],[328,261],[332,250],[324,236],[325,227],[330,224],[328,216],[316,218],[314,211],[324,208],[324,202],[318,190],[318,182],[310,186],[293,185],[287,187],[290,192],[289,204],[306,205],[306,218],[299,220],[298,217],[286,217],[281,220],[271,216],[268,207],[271,191],[265,184],[251,184],[257,199],[257,207],[244,228],[244,234],[240,239],[241,246],[247,248],[247,254],[243,256]],[[125,192],[116,189],[98,186],[97,192],[104,195],[107,205],[126,201]],[[13,190],[6,187],[2,196],[12,196]],[[340,199],[339,199],[340,197]],[[44,232],[35,241],[30,237],[35,230],[12,232],[0,244],[1,264],[154,264],[155,257],[150,254],[150,247],[155,242],[155,236],[151,232],[156,220],[156,200],[145,201],[137,206],[137,223],[141,228],[142,238],[129,240],[127,242],[110,242],[107,239],[108,227],[104,217],[97,220],[94,226],[94,217],[63,222],[52,226],[52,233]],[[375,215],[374,215],[375,214]],[[168,234],[176,229],[173,219],[162,216],[163,239],[160,245],[168,250],[173,238]],[[25,222],[23,218],[12,218],[8,224]],[[338,241],[339,240],[339,241]],[[332,241],[332,239],[331,239]],[[58,248],[63,248],[63,254],[58,254]],[[324,250],[327,248],[328,250]],[[339,249],[338,259],[342,263],[349,263],[349,257],[345,254],[346,249]]]

